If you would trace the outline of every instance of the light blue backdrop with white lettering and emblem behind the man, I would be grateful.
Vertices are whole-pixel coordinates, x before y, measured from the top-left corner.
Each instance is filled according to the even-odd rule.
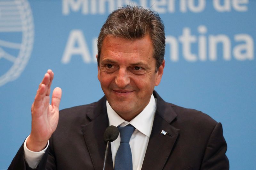
[[[156,91],[221,122],[230,169],[255,169],[256,1],[1,0],[0,170],[30,133],[30,107],[47,69],[52,86],[62,88],[61,109],[103,96],[95,38],[108,14],[127,3],[164,21],[166,66]]]

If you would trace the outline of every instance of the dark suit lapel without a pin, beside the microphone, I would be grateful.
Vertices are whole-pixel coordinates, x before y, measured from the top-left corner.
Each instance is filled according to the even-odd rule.
[[[108,127],[108,115],[106,109],[106,98],[103,97],[94,107],[94,110],[87,114],[92,121],[82,126],[84,140],[92,159],[94,170],[103,168],[106,143],[103,134]],[[106,169],[113,169],[111,146],[108,149]]]

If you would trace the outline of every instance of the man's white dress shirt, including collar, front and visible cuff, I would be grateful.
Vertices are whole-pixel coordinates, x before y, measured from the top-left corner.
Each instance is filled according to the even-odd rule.
[[[148,105],[142,110],[142,112],[140,112],[139,115],[133,118],[131,122],[127,122],[124,119],[122,119],[119,115],[117,115],[117,113],[109,105],[108,101],[106,102],[106,104],[109,125],[114,125],[117,127],[119,125],[126,126],[128,124],[131,124],[133,127],[136,128],[132,133],[132,137],[130,139],[129,144],[131,146],[132,151],[132,169],[140,170],[148,147],[148,141],[156,113],[156,100],[153,94],[151,95]],[[40,152],[30,151],[27,148],[26,142],[27,139],[25,140],[23,145],[25,160],[27,161],[29,167],[36,168],[36,166],[41,161],[46,149],[49,146],[49,141],[46,148]],[[115,141],[111,142],[110,144],[113,166],[115,167],[116,152],[120,145],[120,135],[117,137]]]

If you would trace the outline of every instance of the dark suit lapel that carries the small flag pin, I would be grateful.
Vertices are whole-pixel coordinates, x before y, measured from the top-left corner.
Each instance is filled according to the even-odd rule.
[[[179,135],[179,129],[170,125],[177,116],[175,111],[155,91],[153,94],[157,100],[157,109],[142,170],[163,169]],[[162,130],[167,134],[161,134]]]

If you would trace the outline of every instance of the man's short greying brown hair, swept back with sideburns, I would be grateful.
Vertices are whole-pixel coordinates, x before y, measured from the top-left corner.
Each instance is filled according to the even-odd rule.
[[[163,63],[165,51],[164,24],[158,13],[130,5],[113,11],[102,26],[98,37],[98,66],[102,43],[106,36],[134,40],[143,38],[147,34],[153,43],[153,57],[156,59],[157,71]]]

